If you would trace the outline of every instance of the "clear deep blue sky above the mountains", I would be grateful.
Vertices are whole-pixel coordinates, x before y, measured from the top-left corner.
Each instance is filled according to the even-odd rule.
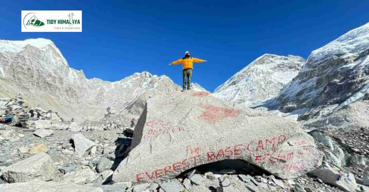
[[[190,51],[193,81],[209,91],[264,53],[300,55],[369,22],[369,1],[3,1],[0,39],[48,38],[87,78],[135,72],[182,82]],[[82,33],[21,33],[21,10],[82,10]],[[6,26],[6,27],[4,27]]]

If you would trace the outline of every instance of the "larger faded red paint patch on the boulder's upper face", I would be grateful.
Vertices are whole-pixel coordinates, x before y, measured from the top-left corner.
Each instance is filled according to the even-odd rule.
[[[230,117],[236,118],[238,117],[239,110],[234,110],[230,108],[217,107],[213,105],[204,105],[199,104],[199,106],[205,111],[200,115],[200,119],[204,119],[207,122],[215,123],[220,121],[221,119]]]

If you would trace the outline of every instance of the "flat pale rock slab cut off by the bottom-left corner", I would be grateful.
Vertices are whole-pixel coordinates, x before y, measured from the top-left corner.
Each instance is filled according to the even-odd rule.
[[[24,183],[0,184],[0,191],[4,192],[103,192],[103,189],[86,185],[76,185],[70,183],[58,183],[53,181],[29,181]]]

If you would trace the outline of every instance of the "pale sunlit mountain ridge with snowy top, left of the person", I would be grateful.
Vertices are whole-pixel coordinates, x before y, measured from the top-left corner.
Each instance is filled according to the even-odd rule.
[[[69,67],[52,41],[42,38],[0,40],[0,87],[0,97],[23,93],[31,105],[80,121],[103,117],[108,106],[139,115],[140,100],[180,90],[169,77],[146,71],[116,82],[87,79],[82,70]]]

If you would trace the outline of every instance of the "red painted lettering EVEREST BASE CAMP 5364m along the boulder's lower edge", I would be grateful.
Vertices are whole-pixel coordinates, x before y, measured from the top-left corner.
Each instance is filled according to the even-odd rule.
[[[292,161],[295,155],[304,155],[310,152],[309,148],[299,148],[297,151],[285,152],[284,149],[276,151],[277,146],[286,141],[287,137],[280,134],[277,137],[259,139],[258,142],[249,141],[244,144],[235,144],[232,146],[218,147],[217,150],[209,150],[207,146],[192,146],[185,147],[186,156],[189,158],[174,162],[160,169],[154,169],[151,172],[139,172],[136,174],[137,182],[144,182],[153,178],[160,178],[168,173],[182,171],[193,166],[196,162],[214,162],[223,159],[229,159],[231,156],[240,156],[251,154],[255,159],[255,164],[260,165],[265,161],[270,163],[279,162],[284,171],[297,172],[305,169],[303,161]],[[297,143],[305,143],[306,141],[297,141]]]

